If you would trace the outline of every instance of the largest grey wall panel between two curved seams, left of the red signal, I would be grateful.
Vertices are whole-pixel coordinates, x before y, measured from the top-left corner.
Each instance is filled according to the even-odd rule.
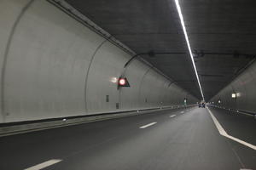
[[[6,122],[83,114],[84,73],[102,41],[49,3],[32,3],[7,58]]]

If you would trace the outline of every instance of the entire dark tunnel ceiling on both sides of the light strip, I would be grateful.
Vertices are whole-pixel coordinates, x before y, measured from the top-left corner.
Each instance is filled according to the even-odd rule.
[[[224,88],[256,54],[253,0],[180,0],[205,99]],[[67,0],[74,8],[201,99],[172,0]],[[254,15],[253,15],[254,14]]]

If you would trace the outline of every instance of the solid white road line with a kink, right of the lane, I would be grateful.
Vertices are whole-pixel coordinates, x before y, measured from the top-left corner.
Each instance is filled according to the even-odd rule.
[[[218,120],[216,119],[216,117],[212,114],[212,111],[209,110],[209,108],[207,107],[207,110],[209,111],[210,115],[212,116],[212,120],[215,124],[215,126],[218,128],[218,132],[223,135],[224,137],[228,138],[228,139],[232,139],[240,144],[246,145],[249,148],[252,148],[253,150],[256,150],[256,146],[253,144],[249,144],[241,139],[237,139],[233,136],[230,136],[228,133],[226,133],[226,131],[224,130],[224,128],[219,124]]]

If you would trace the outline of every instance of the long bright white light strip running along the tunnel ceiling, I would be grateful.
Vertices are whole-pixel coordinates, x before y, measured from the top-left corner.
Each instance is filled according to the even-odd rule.
[[[178,13],[181,25],[183,27],[183,32],[184,32],[184,35],[185,35],[185,39],[186,39],[186,42],[187,42],[187,45],[188,45],[188,48],[189,48],[189,54],[190,54],[190,58],[191,58],[192,63],[193,63],[194,70],[195,70],[195,76],[197,78],[197,82],[198,82],[198,85],[199,85],[199,88],[200,88],[200,91],[201,91],[201,97],[202,97],[203,100],[205,100],[204,94],[203,94],[202,89],[201,89],[201,83],[200,83],[200,80],[199,80],[199,77],[198,77],[198,74],[197,74],[197,71],[196,71],[195,60],[194,60],[194,57],[193,57],[193,54],[192,54],[192,51],[191,51],[191,48],[190,48],[189,37],[188,37],[186,27],[185,27],[185,24],[184,24],[183,14],[182,14],[180,5],[178,3],[178,0],[175,0],[175,4],[176,4],[176,7],[177,7],[177,13]]]

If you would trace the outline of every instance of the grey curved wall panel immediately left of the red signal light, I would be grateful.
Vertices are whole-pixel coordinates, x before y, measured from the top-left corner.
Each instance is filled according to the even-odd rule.
[[[130,55],[111,42],[105,42],[96,53],[88,75],[86,102],[90,113],[115,111],[119,91],[113,79],[119,78]],[[106,102],[109,95],[109,102]]]

